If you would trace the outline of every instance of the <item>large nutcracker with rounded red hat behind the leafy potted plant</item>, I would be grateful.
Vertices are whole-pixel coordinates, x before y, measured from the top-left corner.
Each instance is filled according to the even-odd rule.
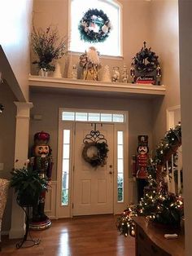
[[[33,157],[30,158],[33,170],[37,170],[40,177],[51,179],[53,160],[49,146],[50,135],[44,131],[34,135]],[[38,204],[33,206],[33,218],[30,228],[41,230],[50,227],[51,222],[44,212],[46,200],[46,189],[41,192]]]

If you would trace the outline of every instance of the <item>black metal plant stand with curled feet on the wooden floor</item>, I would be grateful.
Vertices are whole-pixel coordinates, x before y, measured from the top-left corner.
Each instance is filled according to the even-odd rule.
[[[19,204],[20,205],[20,204]],[[21,206],[20,207],[24,210],[24,214],[25,214],[25,234],[24,234],[24,238],[22,241],[18,242],[16,244],[16,248],[17,249],[20,249],[21,247],[23,248],[27,248],[27,247],[32,247],[33,245],[39,245],[41,240],[40,239],[37,239],[37,240],[34,240],[30,233],[28,232],[29,230],[29,208],[30,206],[26,205],[26,206]],[[30,239],[28,239],[28,235],[30,237]],[[29,242],[29,245],[24,245],[24,243],[26,242]]]

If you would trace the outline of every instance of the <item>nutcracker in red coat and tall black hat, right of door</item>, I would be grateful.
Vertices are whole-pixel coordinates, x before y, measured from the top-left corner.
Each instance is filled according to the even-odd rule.
[[[148,136],[138,135],[137,156],[133,156],[133,177],[137,181],[137,201],[144,196],[147,185],[147,162],[149,160]]]

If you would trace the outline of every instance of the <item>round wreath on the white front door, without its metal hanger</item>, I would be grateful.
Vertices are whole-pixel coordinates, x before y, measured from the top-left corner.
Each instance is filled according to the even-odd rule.
[[[88,157],[87,151],[91,147],[97,148],[97,154],[93,157]],[[109,151],[107,143],[85,143],[82,151],[82,157],[86,162],[88,162],[92,167],[104,166],[106,165],[107,152]]]

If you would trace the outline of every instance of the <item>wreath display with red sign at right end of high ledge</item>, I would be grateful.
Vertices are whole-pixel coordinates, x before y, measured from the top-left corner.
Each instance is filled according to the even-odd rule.
[[[147,48],[146,42],[143,42],[142,49],[133,57],[131,70],[135,68],[134,82],[159,86],[162,73],[158,58],[159,56],[151,51],[151,47]]]

